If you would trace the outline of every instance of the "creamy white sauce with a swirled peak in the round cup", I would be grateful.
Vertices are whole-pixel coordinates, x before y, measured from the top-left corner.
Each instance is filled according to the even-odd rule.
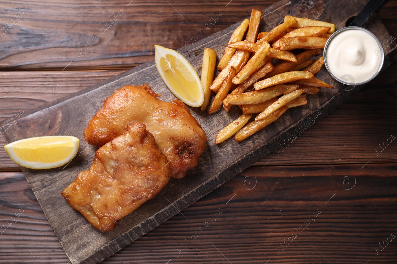
[[[380,67],[381,56],[376,39],[368,32],[354,28],[338,33],[326,50],[328,70],[348,84],[365,82],[374,76]]]

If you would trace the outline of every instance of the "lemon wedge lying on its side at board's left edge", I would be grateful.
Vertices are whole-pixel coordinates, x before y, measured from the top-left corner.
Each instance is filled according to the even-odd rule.
[[[79,150],[79,139],[72,136],[31,137],[4,146],[10,158],[29,169],[51,169],[71,161]]]

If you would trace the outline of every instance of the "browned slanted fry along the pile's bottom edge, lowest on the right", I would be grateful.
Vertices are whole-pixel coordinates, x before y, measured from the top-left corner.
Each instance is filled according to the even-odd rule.
[[[234,135],[234,138],[240,142],[240,141],[243,141],[244,139],[246,139],[247,137],[254,135],[256,132],[258,132],[262,128],[264,128],[264,127],[270,125],[271,123],[273,123],[274,121],[278,120],[278,118],[282,114],[284,114],[284,112],[287,111],[287,109],[288,109],[288,107],[286,107],[286,106],[281,107],[280,109],[278,109],[278,110],[274,111],[272,114],[270,114],[270,116],[268,116],[267,118],[264,118],[259,121],[252,121],[251,123],[248,123],[247,125],[245,125],[245,127],[240,129]]]

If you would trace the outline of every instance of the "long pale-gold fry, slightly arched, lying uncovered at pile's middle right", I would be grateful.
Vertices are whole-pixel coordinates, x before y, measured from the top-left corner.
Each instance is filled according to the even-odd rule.
[[[258,91],[260,89],[270,87],[273,85],[277,85],[277,84],[285,84],[285,83],[293,82],[296,80],[311,79],[311,78],[314,78],[314,75],[311,72],[308,72],[306,70],[295,70],[292,72],[280,73],[273,77],[256,82],[254,84],[254,88],[256,91]]]

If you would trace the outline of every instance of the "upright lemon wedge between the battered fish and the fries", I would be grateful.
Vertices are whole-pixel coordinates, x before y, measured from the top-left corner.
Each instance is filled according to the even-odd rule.
[[[198,107],[204,102],[204,89],[193,66],[173,49],[154,45],[158,73],[170,91],[183,103]]]

